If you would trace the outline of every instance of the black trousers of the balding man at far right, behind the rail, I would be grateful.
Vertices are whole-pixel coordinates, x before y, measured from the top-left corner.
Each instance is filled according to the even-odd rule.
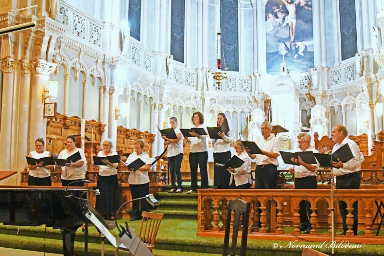
[[[336,189],[359,189],[361,183],[361,174],[360,172],[352,172],[346,175],[342,176],[336,176]],[[358,224],[358,214],[357,214],[357,207],[358,202],[355,201],[352,204],[353,210],[353,226],[352,230],[355,235],[357,235],[357,224]],[[347,203],[345,201],[339,201],[339,210],[341,218],[343,219],[343,229],[344,231],[348,230],[347,227]]]

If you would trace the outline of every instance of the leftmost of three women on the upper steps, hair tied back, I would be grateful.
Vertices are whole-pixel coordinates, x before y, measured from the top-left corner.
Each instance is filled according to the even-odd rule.
[[[171,128],[175,130],[176,139],[169,139],[166,136],[162,135],[161,138],[164,140],[164,145],[168,145],[167,156],[168,156],[168,166],[169,171],[171,172],[171,184],[172,188],[169,193],[181,193],[183,192],[183,187],[181,186],[181,162],[183,161],[184,149],[183,149],[183,134],[180,131],[180,128],[177,127],[176,117],[171,117],[169,119],[169,124]],[[177,178],[177,188],[176,188],[176,178]]]

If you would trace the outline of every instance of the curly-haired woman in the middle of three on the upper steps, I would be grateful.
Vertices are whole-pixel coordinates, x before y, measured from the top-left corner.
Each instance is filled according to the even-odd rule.
[[[194,128],[203,128],[208,133],[207,127],[204,125],[204,116],[199,111],[192,115],[192,124]],[[197,166],[200,168],[200,187],[208,188],[208,151],[207,151],[207,135],[197,134],[192,130],[190,134],[194,137],[184,137],[190,146],[190,168],[191,168],[191,187],[188,194],[197,192]]]

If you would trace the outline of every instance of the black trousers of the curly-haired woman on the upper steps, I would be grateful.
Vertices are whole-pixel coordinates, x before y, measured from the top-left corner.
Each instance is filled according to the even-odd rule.
[[[196,191],[197,189],[197,166],[200,167],[200,187],[208,188],[207,162],[208,151],[196,153],[190,152],[191,190]]]

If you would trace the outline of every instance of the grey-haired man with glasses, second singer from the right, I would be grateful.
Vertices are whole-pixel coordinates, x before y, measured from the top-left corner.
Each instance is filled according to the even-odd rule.
[[[298,147],[301,151],[318,153],[318,151],[311,146],[311,135],[302,132],[297,135],[297,139]],[[300,157],[298,157],[298,159],[291,158],[291,161],[299,164],[289,168],[289,172],[295,174],[295,189],[317,188],[316,170],[319,167],[317,160],[317,163],[314,165],[305,163]],[[299,229],[303,231],[304,234],[309,234],[311,232],[311,203],[308,200],[303,200],[300,201],[299,207],[298,213],[300,214],[301,223]]]

